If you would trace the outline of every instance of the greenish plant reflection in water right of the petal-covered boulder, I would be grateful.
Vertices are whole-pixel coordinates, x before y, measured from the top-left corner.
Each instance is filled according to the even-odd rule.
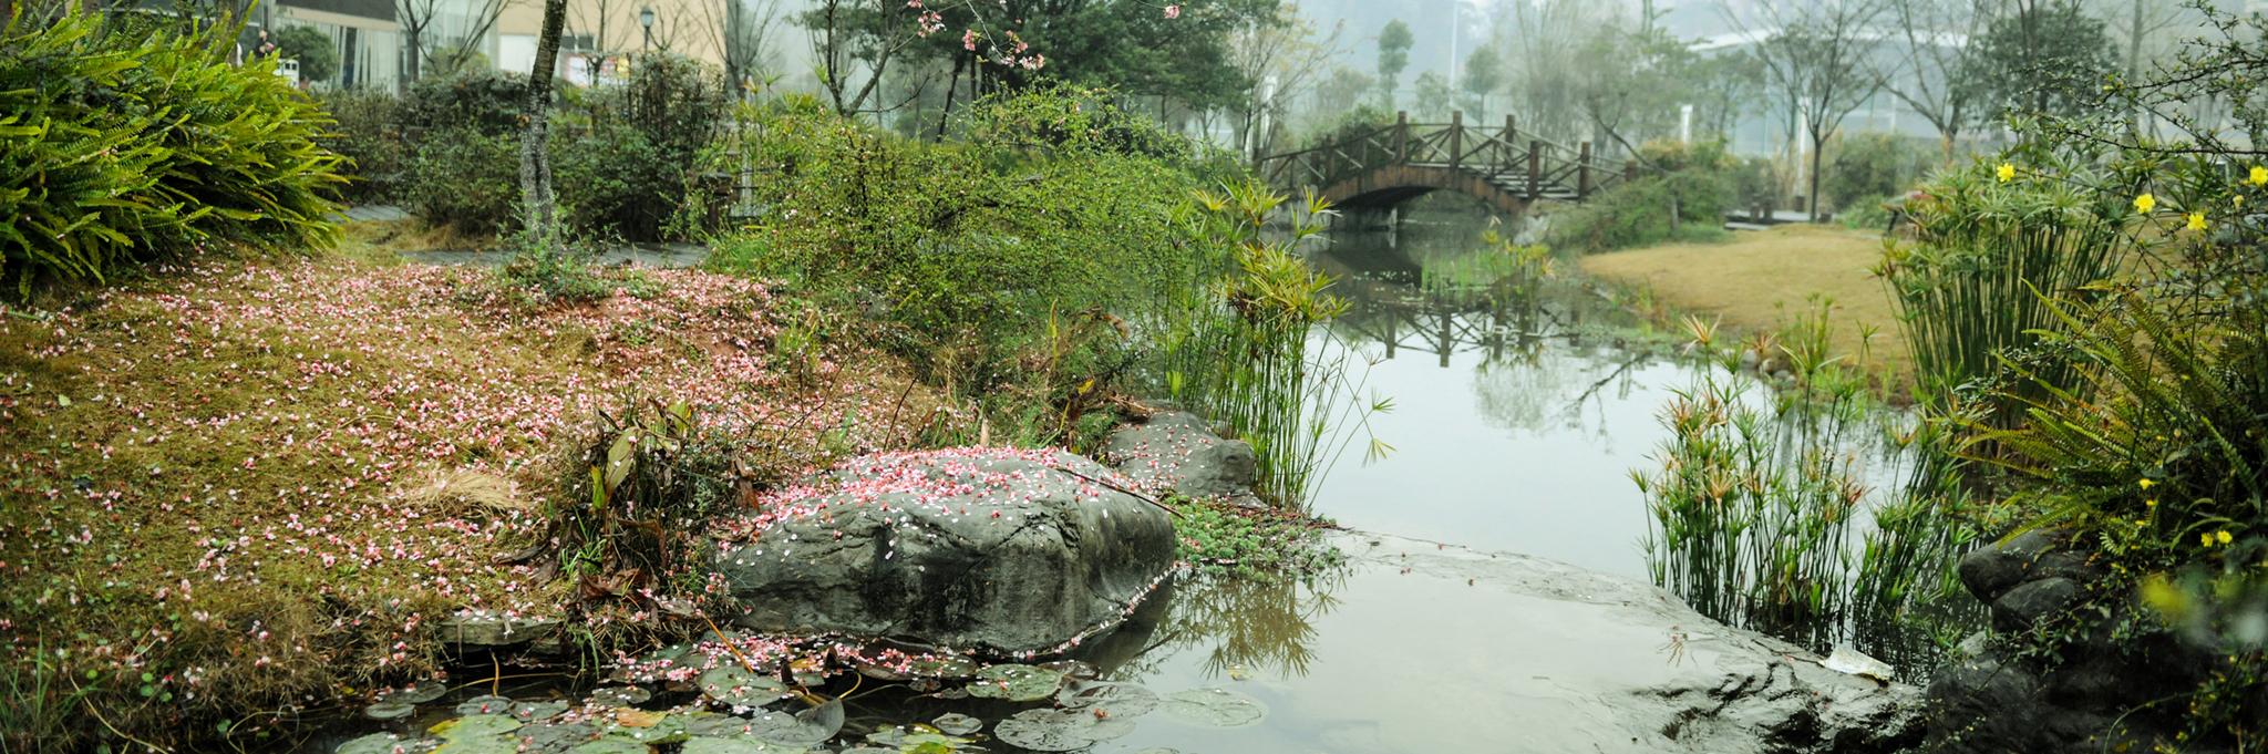
[[[1315,620],[1338,607],[1334,591],[1345,571],[1313,577],[1218,575],[1173,586],[1166,616],[1150,643],[1111,670],[1116,679],[1154,672],[1166,659],[1204,650],[1204,675],[1250,668],[1281,677],[1306,675],[1315,654]]]

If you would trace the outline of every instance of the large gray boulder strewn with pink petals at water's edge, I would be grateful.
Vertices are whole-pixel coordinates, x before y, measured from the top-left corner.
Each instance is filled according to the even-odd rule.
[[[1055,451],[871,455],[721,521],[712,566],[753,629],[1043,652],[1173,568],[1173,521],[1127,485]]]

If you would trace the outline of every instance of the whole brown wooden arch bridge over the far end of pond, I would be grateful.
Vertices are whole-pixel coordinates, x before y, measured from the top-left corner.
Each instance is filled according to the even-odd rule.
[[[1465,125],[1465,113],[1445,125],[1417,125],[1397,113],[1393,125],[1263,156],[1259,174],[1277,188],[1313,188],[1340,208],[1379,211],[1456,190],[1506,215],[1522,215],[1535,202],[1590,199],[1637,177],[1637,163],[1603,161],[1588,140],[1569,149],[1522,134],[1513,115],[1492,129]]]

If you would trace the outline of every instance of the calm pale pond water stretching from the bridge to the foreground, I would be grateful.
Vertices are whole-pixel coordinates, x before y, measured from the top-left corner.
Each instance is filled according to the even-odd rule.
[[[1352,303],[1320,335],[1361,349],[1368,374],[1349,378],[1395,401],[1372,419],[1395,453],[1368,464],[1347,457],[1313,489],[1313,507],[1354,530],[1331,534],[1347,566],[1313,580],[1168,582],[1127,625],[1075,654],[1086,668],[1061,691],[1068,700],[1111,682],[1141,700],[1114,693],[1109,704],[1057,713],[1057,695],[975,700],[953,682],[860,682],[850,693],[853,682],[837,677],[821,695],[850,697],[839,720],[826,720],[839,736],[816,749],[1025,752],[1002,736],[1095,754],[1656,749],[1681,711],[1640,691],[1715,688],[1726,672],[1715,657],[1733,652],[1687,636],[1678,625],[1703,620],[1642,586],[1647,509],[1631,480],[1633,469],[1656,466],[1667,435],[1656,414],[1703,367],[1674,342],[1640,335],[1579,283],[1551,285],[1524,306],[1427,294],[1422,269],[1474,247],[1470,222],[1406,224],[1338,235],[1315,256]],[[1862,466],[1871,475],[1896,471],[1862,455],[1873,457]],[[746,720],[692,713],[703,706],[699,688],[644,688],[653,697],[628,706],[705,731],[685,752],[796,752],[751,743]],[[431,745],[431,725],[490,691],[522,702],[590,700],[587,686],[558,679],[469,684],[395,722],[349,711],[349,722],[299,749],[395,743],[383,736]],[[572,722],[576,736],[624,731],[608,704],[583,709],[594,718]],[[957,716],[982,727],[955,734],[959,725],[948,722],[966,722]],[[574,716],[551,727],[560,720]],[[1025,722],[1005,729],[1002,720]],[[370,734],[381,738],[358,738]]]

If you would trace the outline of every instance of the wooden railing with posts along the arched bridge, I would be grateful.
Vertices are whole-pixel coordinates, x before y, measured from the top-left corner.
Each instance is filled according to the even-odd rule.
[[[1290,188],[1331,186],[1388,165],[1467,170],[1497,186],[1510,183],[1526,199],[1569,192],[1588,199],[1640,172],[1635,161],[1599,158],[1590,143],[1567,147],[1520,131],[1513,115],[1504,118],[1501,129],[1490,129],[1465,125],[1463,113],[1449,122],[1408,122],[1408,113],[1397,113],[1393,125],[1272,154],[1256,168],[1261,179]]]

